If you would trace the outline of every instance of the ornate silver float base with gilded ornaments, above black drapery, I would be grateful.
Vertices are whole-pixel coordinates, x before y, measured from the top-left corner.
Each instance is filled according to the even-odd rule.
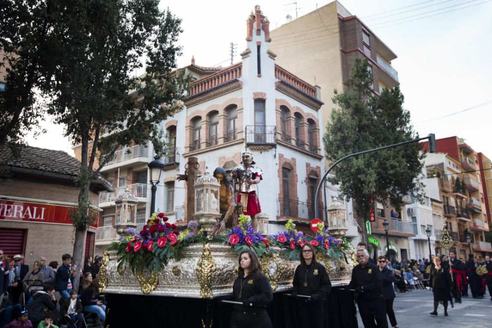
[[[171,259],[160,272],[118,270],[116,251],[105,251],[99,273],[100,290],[111,294],[155,295],[187,298],[214,298],[231,294],[237,277],[239,256],[231,247],[220,243],[185,247],[180,260]],[[348,284],[355,254],[347,254],[348,264],[341,259],[319,256],[328,270],[332,286]],[[277,253],[261,258],[263,273],[275,292],[292,288],[294,271],[299,261],[286,261]]]

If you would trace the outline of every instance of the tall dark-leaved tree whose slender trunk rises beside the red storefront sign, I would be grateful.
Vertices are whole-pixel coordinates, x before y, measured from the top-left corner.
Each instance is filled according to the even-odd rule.
[[[119,146],[152,140],[162,155],[158,124],[182,109],[189,79],[175,71],[181,20],[158,0],[73,0],[58,3],[53,26],[56,70],[43,86],[47,113],[81,145],[78,208],[72,214],[72,263],[81,267],[92,222],[89,186]],[[143,67],[145,74],[135,77]],[[104,154],[104,155],[100,155]],[[98,162],[98,163],[97,163]],[[97,166],[98,164],[98,166]],[[74,279],[77,288],[78,279]]]

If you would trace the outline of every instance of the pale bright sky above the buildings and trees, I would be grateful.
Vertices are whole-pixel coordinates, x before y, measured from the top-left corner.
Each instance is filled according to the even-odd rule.
[[[231,42],[237,45],[234,62],[246,49],[246,18],[254,6],[261,6],[274,30],[286,22],[287,14],[296,18],[296,4],[290,1],[169,0],[160,5],[183,20],[178,66],[188,65],[192,56],[197,65],[227,66]],[[329,2],[298,0],[297,15]],[[437,139],[457,135],[491,157],[492,0],[339,2],[397,54],[392,66],[415,130],[421,136],[434,133]],[[49,118],[41,125],[47,133],[29,135],[29,145],[73,155],[62,126]]]

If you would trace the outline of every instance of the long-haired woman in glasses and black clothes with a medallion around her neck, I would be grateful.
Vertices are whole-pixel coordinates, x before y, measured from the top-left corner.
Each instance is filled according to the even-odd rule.
[[[292,297],[297,298],[299,325],[302,328],[326,327],[325,299],[332,289],[326,268],[316,261],[314,247],[304,244],[300,254],[301,264],[296,268]],[[308,296],[308,298],[303,297]]]

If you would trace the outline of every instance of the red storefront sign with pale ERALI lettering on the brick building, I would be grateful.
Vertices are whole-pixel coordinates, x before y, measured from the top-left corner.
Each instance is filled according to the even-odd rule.
[[[75,207],[45,203],[31,203],[0,199],[0,220],[72,224],[70,213]],[[99,213],[91,210],[94,216],[92,227],[97,228]]]

